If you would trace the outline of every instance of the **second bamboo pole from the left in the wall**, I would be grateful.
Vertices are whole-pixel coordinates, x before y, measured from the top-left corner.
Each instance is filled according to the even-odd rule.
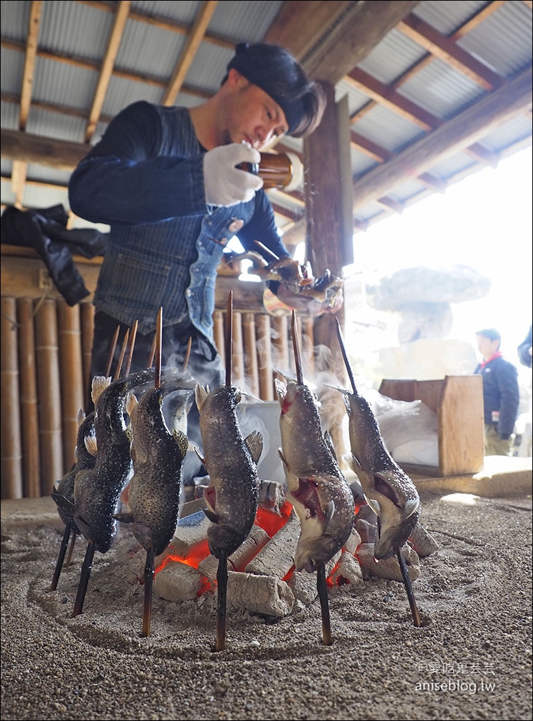
[[[40,497],[39,415],[35,368],[35,322],[31,298],[18,298],[20,418],[24,498]]]

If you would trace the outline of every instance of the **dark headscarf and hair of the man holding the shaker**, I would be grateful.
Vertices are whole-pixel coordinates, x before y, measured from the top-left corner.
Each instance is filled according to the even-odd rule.
[[[295,58],[279,45],[241,43],[226,69],[223,84],[233,69],[274,100],[282,110],[287,135],[303,138],[321,122],[326,107],[323,89],[310,81]]]

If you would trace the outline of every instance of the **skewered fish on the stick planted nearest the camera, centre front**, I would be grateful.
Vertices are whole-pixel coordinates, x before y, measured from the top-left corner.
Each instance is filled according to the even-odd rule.
[[[204,513],[212,521],[207,529],[207,542],[212,555],[218,558],[217,651],[225,647],[228,556],[241,546],[254,525],[259,503],[257,463],[263,450],[259,431],[243,438],[238,426],[236,406],[241,393],[231,385],[232,316],[233,292],[230,291],[226,313],[225,385],[212,392],[201,384],[195,389],[203,457],[197,452],[210,477],[210,484],[204,490],[207,506]]]

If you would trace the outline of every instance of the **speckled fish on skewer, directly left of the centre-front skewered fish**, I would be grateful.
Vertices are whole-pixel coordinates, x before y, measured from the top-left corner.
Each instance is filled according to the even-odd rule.
[[[129,510],[115,514],[122,523],[132,523],[135,539],[145,549],[145,598],[143,636],[150,635],[154,559],[169,545],[179,515],[182,464],[189,441],[182,430],[169,430],[163,415],[165,389],[161,384],[162,309],[157,320],[156,376],[154,387],[138,401],[128,394],[127,412],[132,429],[133,477],[127,487]],[[190,386],[192,376],[184,374]],[[176,381],[171,384],[175,389]]]

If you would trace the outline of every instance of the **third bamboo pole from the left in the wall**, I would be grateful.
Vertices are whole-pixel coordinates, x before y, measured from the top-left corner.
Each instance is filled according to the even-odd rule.
[[[46,298],[36,318],[35,355],[41,451],[41,493],[48,495],[63,477],[61,385],[58,362],[58,322],[55,301]]]

